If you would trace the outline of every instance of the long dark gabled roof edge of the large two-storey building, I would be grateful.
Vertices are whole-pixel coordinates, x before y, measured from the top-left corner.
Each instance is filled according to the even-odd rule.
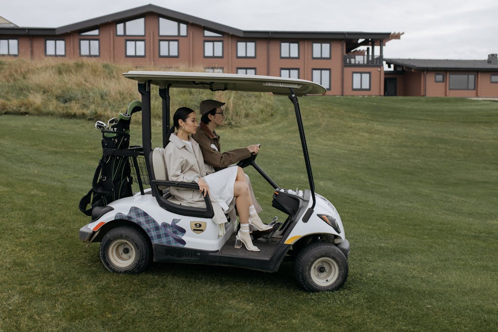
[[[101,24],[110,22],[119,22],[136,17],[143,16],[147,13],[155,13],[166,18],[170,18],[182,23],[193,23],[200,25],[208,30],[218,33],[232,34],[238,37],[249,38],[315,38],[315,39],[347,39],[351,40],[353,46],[356,45],[358,39],[372,40],[390,40],[399,39],[399,34],[391,34],[390,32],[348,32],[348,31],[244,31],[228,25],[209,21],[192,15],[187,15],[179,11],[170,10],[159,7],[154,4],[146,4],[140,7],[127,9],[114,14],[104,15],[97,18],[64,25],[58,28],[30,28],[30,27],[15,27],[1,28],[0,34],[16,34],[16,35],[61,35],[73,31],[93,30]],[[360,46],[360,45],[358,45]]]

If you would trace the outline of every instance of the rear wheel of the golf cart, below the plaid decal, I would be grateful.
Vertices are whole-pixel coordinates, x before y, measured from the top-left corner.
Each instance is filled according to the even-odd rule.
[[[129,226],[108,231],[100,243],[102,264],[115,273],[138,273],[152,260],[149,239],[139,230]]]

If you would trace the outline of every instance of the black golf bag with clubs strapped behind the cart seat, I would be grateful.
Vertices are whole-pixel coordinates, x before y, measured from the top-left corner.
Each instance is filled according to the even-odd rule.
[[[97,121],[96,127],[102,131],[103,154],[95,170],[92,189],[80,200],[80,211],[87,216],[92,215],[95,207],[133,195],[130,157],[123,153],[129,147],[129,122],[133,111],[141,111],[139,101],[132,102],[128,111],[120,113],[118,119],[109,120],[108,124],[114,122],[110,128]],[[90,208],[87,209],[88,205]]]

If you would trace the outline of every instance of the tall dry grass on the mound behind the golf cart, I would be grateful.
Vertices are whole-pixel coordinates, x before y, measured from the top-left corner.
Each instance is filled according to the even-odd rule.
[[[0,114],[107,120],[125,111],[131,101],[141,98],[136,82],[122,76],[129,70],[203,71],[202,68],[187,66],[136,68],[94,59],[2,59]],[[227,103],[226,122],[233,126],[260,123],[270,116],[268,110],[273,109],[272,96],[262,93],[171,89],[170,95],[172,112],[183,106],[198,110],[204,99],[224,101]],[[161,99],[157,89],[153,90],[151,104],[154,123],[160,123]]]

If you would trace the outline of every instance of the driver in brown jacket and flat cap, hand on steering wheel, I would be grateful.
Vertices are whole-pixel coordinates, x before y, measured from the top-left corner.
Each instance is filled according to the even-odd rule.
[[[192,137],[195,139],[202,150],[202,155],[204,156],[204,162],[209,166],[212,166],[216,171],[235,164],[243,159],[249,158],[252,153],[256,154],[259,152],[259,145],[253,144],[248,147],[234,149],[230,151],[225,151],[221,153],[220,147],[220,136],[216,133],[216,128],[223,124],[225,119],[225,113],[223,111],[223,106],[225,103],[218,102],[215,100],[204,100],[199,105],[199,110],[201,112],[201,123],[199,129]],[[257,203],[254,193],[252,192],[252,186],[249,181],[249,177],[246,174],[246,181],[249,186],[250,196],[252,199],[252,204],[249,208],[249,224],[253,229],[257,230],[270,230],[272,227],[264,224],[259,216],[258,212],[261,212],[261,207]]]

